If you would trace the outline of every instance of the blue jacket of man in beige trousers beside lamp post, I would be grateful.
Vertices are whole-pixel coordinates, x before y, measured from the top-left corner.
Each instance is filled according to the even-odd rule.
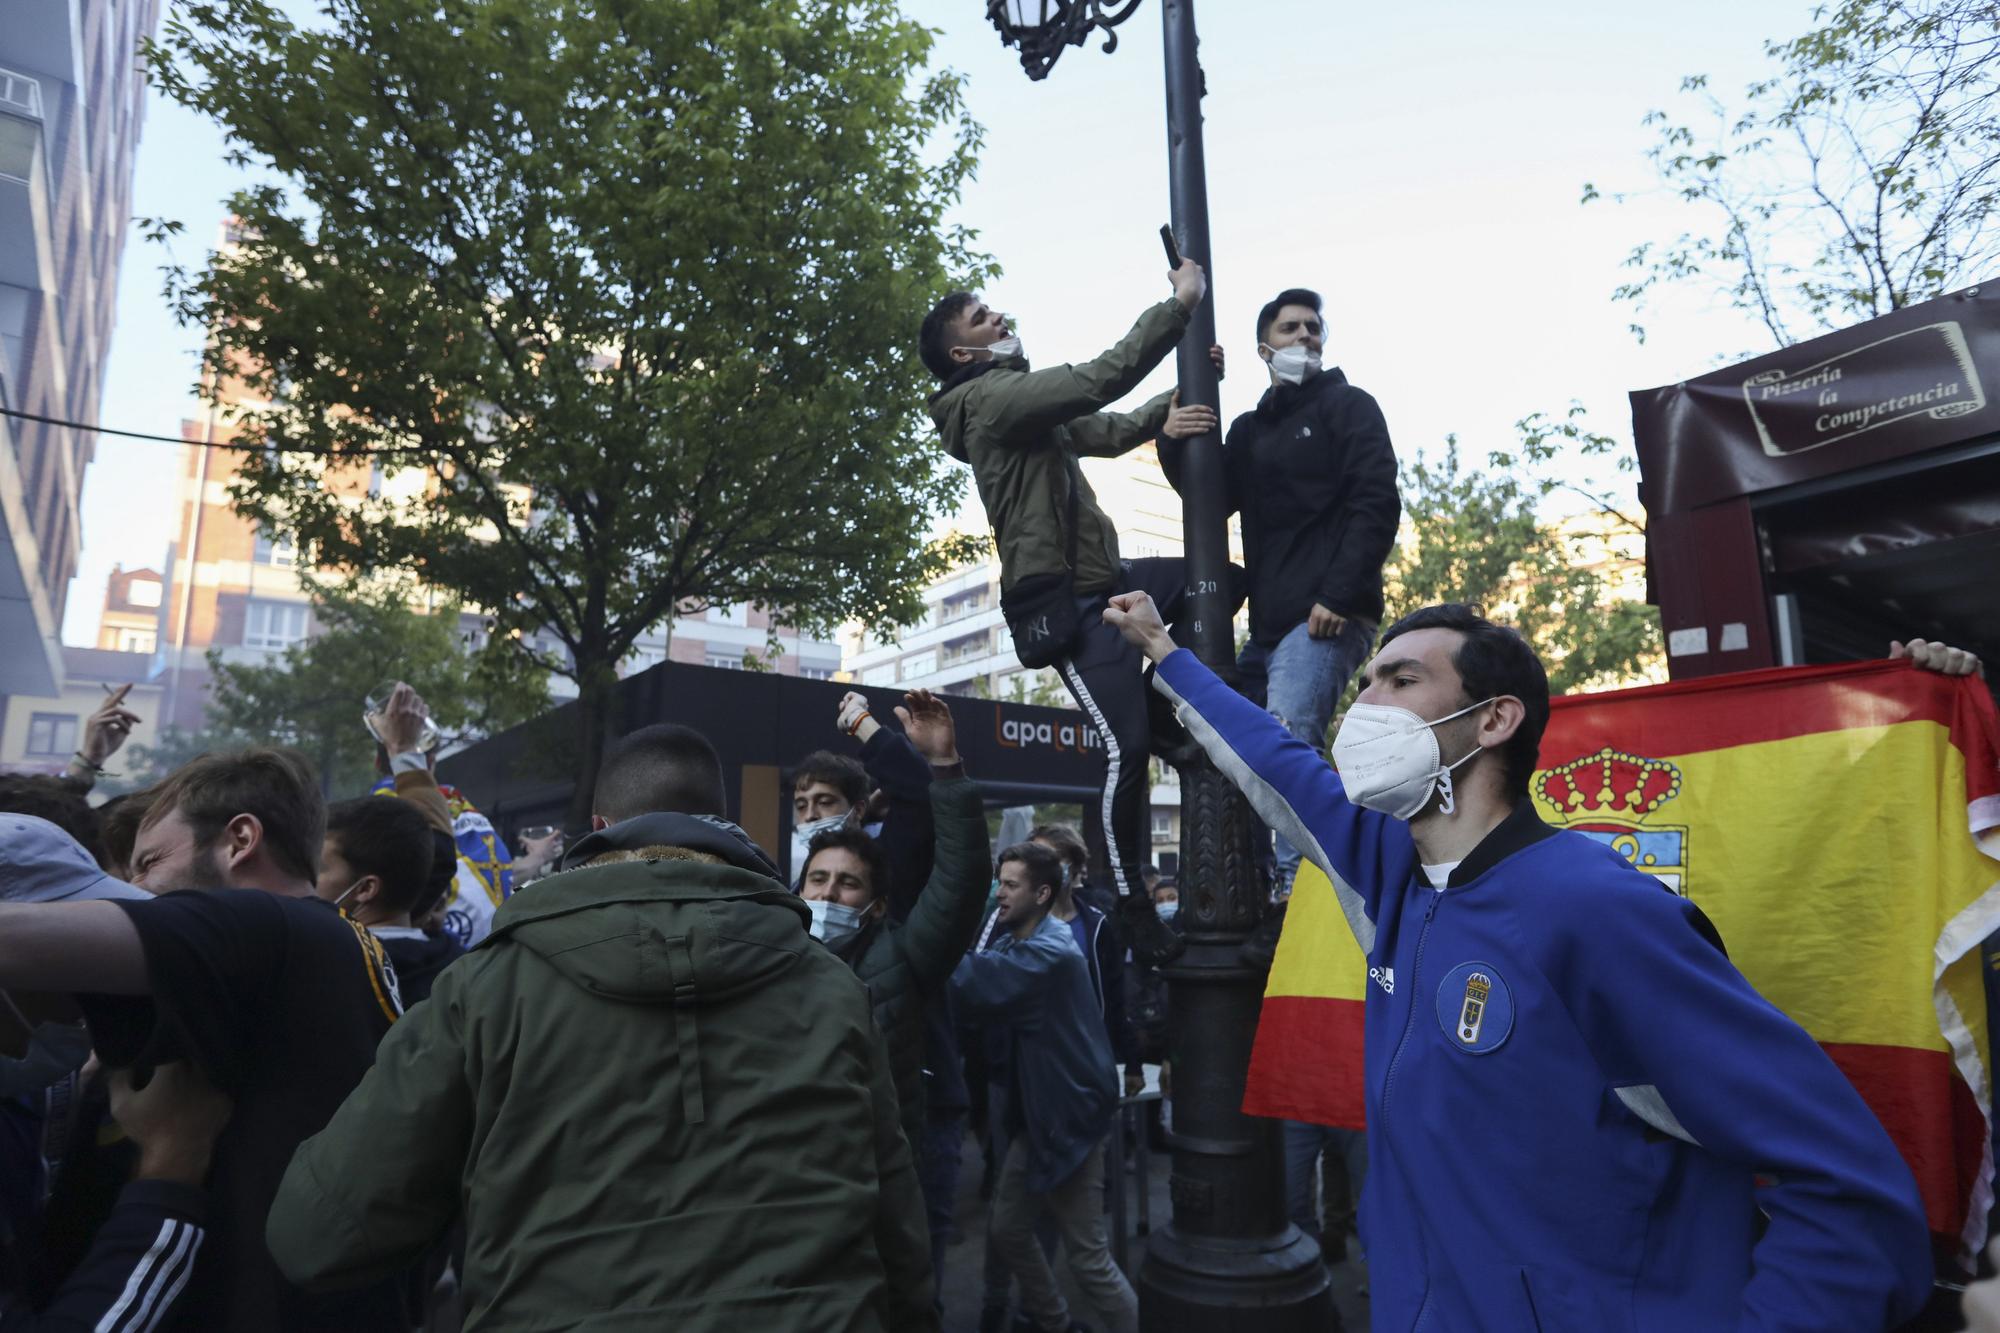
[[[1090,967],[1054,917],[1028,939],[1002,935],[952,973],[952,1001],[1006,1033],[1008,1133],[1028,1145],[1028,1189],[1070,1179],[1118,1113],[1118,1071],[1104,1039]]]

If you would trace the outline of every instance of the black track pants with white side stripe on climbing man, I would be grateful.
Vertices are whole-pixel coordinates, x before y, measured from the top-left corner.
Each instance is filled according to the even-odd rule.
[[[1168,624],[1180,614],[1186,566],[1178,556],[1126,560],[1118,592],[1148,592]],[[1062,685],[1104,743],[1104,795],[1086,819],[1104,827],[1118,895],[1144,893],[1140,867],[1152,857],[1152,757],[1146,677],[1138,648],[1104,624],[1104,598],[1090,598],[1070,654],[1056,662]]]

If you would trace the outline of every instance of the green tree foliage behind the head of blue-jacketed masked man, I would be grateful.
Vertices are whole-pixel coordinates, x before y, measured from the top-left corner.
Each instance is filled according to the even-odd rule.
[[[1518,444],[1484,470],[1456,438],[1402,466],[1404,530],[1384,568],[1390,618],[1430,602],[1484,606],[1534,644],[1558,695],[1658,675],[1660,614],[1614,586],[1610,560],[1644,528],[1598,488],[1552,472],[1562,458],[1564,472],[1608,458],[1616,440],[1592,432],[1578,406],[1516,430]],[[1564,492],[1588,504],[1560,506]]]

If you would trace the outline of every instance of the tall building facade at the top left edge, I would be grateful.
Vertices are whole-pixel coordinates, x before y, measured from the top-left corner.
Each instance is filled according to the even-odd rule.
[[[158,0],[0,14],[0,697],[62,691],[94,436],[8,412],[98,420],[156,20]]]

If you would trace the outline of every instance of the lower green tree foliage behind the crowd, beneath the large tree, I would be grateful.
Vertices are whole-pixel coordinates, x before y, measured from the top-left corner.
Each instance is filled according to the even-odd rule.
[[[548,677],[516,652],[468,642],[456,608],[418,614],[376,592],[322,598],[314,614],[324,632],[272,662],[228,662],[210,650],[208,725],[140,749],[136,773],[156,781],[208,749],[290,745],[314,763],[328,797],[352,797],[376,779],[362,701],[384,681],[408,681],[424,697],[446,745],[548,707]]]

